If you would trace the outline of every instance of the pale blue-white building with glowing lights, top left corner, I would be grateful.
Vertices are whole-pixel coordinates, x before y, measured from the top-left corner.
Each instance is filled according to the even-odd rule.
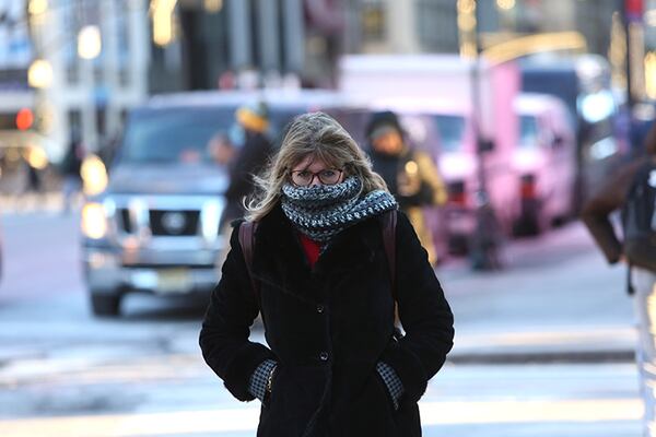
[[[50,162],[62,158],[75,134],[98,151],[147,96],[147,7],[145,0],[0,0],[0,16],[11,17],[0,28],[0,40],[10,42],[0,44],[1,110],[32,111],[27,137]]]

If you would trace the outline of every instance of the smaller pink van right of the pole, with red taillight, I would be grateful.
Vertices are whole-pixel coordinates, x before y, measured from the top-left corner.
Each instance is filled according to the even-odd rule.
[[[560,98],[520,94],[514,108],[519,117],[519,135],[512,165],[520,180],[514,233],[535,235],[573,213],[576,134]]]

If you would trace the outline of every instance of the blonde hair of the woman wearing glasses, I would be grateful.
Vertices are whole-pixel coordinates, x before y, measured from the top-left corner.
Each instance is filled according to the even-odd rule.
[[[245,205],[246,220],[258,221],[276,206],[290,172],[307,156],[343,168],[345,176],[360,177],[361,193],[387,191],[383,178],[373,172],[370,158],[339,122],[324,113],[303,114],[289,125],[269,167],[255,176],[257,193]]]

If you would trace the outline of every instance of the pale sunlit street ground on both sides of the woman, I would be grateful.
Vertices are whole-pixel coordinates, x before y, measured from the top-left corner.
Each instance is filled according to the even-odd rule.
[[[255,435],[258,405],[234,400],[200,357],[204,302],[131,296],[120,319],[94,319],[77,226],[58,213],[1,218],[0,436]],[[457,335],[421,402],[424,435],[640,435],[623,270],[576,223],[506,258],[499,272],[437,270]]]

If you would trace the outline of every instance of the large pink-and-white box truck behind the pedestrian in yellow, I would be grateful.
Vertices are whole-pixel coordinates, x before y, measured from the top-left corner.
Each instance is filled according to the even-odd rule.
[[[410,140],[434,156],[448,185],[446,221],[449,248],[456,252],[467,250],[476,226],[481,174],[506,233],[519,214],[520,179],[512,167],[519,71],[514,63],[481,61],[473,75],[475,68],[473,61],[455,55],[355,55],[340,62],[340,91],[366,101],[372,110],[398,113]],[[490,144],[482,158],[479,138]]]

